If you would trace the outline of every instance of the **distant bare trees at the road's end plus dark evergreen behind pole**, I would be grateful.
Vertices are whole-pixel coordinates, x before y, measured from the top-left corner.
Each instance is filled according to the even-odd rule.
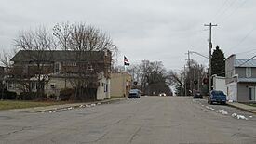
[[[225,75],[224,53],[216,46],[212,53],[212,75]],[[122,72],[122,66],[115,67],[116,72]],[[191,96],[195,91],[203,95],[209,93],[209,68],[195,60],[187,61],[184,69],[177,71],[167,70],[162,61],[142,60],[140,64],[128,67],[137,87],[147,95]],[[212,84],[211,84],[212,85]],[[212,87],[211,87],[212,88]]]

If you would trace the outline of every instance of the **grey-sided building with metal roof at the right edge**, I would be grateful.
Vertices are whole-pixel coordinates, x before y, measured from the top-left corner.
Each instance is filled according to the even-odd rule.
[[[256,59],[225,59],[227,99],[256,102]]]

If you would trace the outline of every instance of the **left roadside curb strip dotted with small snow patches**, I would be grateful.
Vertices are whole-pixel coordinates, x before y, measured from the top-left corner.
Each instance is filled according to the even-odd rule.
[[[74,103],[74,104],[70,104],[70,105],[60,105],[60,108],[47,108],[47,107],[45,107],[45,109],[42,108],[42,110],[35,110],[35,111],[30,111],[30,112],[37,113],[37,112],[45,112],[45,111],[58,111],[58,110],[67,109],[67,108],[70,108],[70,107],[78,108],[81,105],[91,105],[91,104],[99,105],[99,103],[106,104],[106,103],[121,101],[121,100],[125,100],[125,99],[127,99],[127,98],[113,98],[113,99],[106,99],[106,100],[102,100],[102,101],[100,100],[100,101],[77,103],[77,104]],[[50,106],[50,107],[54,107],[54,106]]]

